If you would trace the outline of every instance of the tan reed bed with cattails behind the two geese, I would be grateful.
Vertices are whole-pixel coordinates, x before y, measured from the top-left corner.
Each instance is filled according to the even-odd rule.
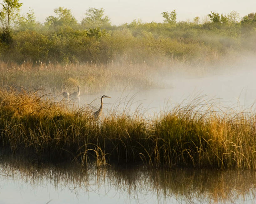
[[[0,87],[43,88],[42,92],[60,94],[81,86],[83,94],[123,91],[124,88],[146,89],[163,87],[155,68],[146,64],[93,64],[25,62],[8,64],[0,62]]]

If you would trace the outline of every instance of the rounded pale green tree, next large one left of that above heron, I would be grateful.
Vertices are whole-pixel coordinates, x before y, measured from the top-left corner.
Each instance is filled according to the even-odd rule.
[[[56,13],[57,17],[48,16],[44,25],[52,26],[53,28],[56,28],[56,26],[57,28],[61,26],[76,28],[78,26],[77,20],[72,15],[70,9],[58,7],[54,9],[54,13]]]

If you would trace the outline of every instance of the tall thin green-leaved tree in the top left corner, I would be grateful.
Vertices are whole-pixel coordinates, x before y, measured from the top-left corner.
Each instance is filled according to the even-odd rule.
[[[9,30],[10,24],[18,17],[22,3],[19,0],[3,0],[0,18],[2,27]]]

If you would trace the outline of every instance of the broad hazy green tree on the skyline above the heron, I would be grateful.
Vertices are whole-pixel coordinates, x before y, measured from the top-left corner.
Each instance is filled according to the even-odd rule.
[[[84,28],[102,28],[111,26],[110,19],[104,14],[103,8],[89,8],[84,14],[86,17],[81,21],[81,25]]]

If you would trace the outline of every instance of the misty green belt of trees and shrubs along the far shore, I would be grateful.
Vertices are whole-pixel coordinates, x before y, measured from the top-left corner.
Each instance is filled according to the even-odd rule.
[[[173,10],[161,13],[163,23],[138,19],[114,26],[103,8],[89,8],[78,23],[69,9],[58,7],[56,15],[42,24],[33,9],[19,15],[21,7],[18,0],[2,3],[0,60],[7,63],[203,65],[241,51],[256,51],[256,13],[241,20],[234,11],[211,12],[201,21],[195,17],[193,22],[176,22]]]

